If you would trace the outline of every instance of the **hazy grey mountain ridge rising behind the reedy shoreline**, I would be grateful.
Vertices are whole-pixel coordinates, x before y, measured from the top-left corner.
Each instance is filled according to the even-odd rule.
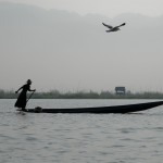
[[[126,26],[108,34],[102,22],[111,25],[125,22]],[[133,13],[114,18],[98,14],[82,16],[0,2],[2,87],[10,87],[14,74],[14,85],[28,76],[43,83],[39,88],[97,90],[124,85],[155,90],[163,83],[158,75],[162,73],[162,29],[163,16]]]

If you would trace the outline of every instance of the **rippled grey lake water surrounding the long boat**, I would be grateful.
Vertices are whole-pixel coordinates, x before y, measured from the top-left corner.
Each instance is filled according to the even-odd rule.
[[[30,100],[76,108],[156,100]],[[0,100],[0,163],[162,163],[163,106],[137,114],[20,114]]]

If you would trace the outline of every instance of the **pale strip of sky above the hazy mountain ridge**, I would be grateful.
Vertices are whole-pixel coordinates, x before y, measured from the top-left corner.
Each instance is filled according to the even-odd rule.
[[[0,0],[4,1],[4,0]],[[163,0],[7,0],[35,4],[45,9],[59,9],[79,14],[99,13],[115,16],[120,13],[134,12],[150,16],[163,14]]]

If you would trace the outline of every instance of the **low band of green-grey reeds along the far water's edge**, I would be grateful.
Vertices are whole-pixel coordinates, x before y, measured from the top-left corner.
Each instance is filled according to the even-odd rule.
[[[29,92],[30,93],[30,92]],[[28,95],[29,95],[28,93]],[[14,91],[5,91],[0,89],[0,99],[16,99],[18,95]],[[60,92],[51,90],[47,92],[35,92],[32,99],[163,99],[163,92],[126,92],[125,95],[116,95],[110,91],[67,91]]]

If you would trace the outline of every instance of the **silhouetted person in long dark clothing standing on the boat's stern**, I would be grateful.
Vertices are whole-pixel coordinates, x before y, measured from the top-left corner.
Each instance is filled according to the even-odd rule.
[[[17,93],[22,89],[22,91],[17,98],[17,101],[15,102],[15,108],[22,109],[22,111],[25,111],[25,106],[27,103],[27,100],[26,100],[27,91],[36,91],[36,89],[34,89],[34,90],[30,89],[30,85],[32,85],[32,80],[28,79],[24,86],[22,86],[17,91],[15,91],[15,93]]]

